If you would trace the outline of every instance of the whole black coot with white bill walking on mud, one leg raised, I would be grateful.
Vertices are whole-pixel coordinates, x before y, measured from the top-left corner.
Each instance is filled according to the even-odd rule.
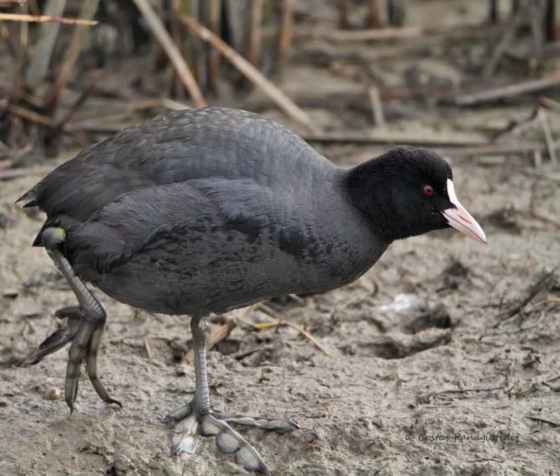
[[[105,312],[90,282],[116,300],[188,314],[195,347],[195,396],[169,415],[173,450],[194,451],[200,425],[248,470],[269,474],[228,423],[277,431],[289,419],[211,412],[205,317],[288,293],[349,283],[397,239],[454,227],[486,242],[459,203],[447,162],[397,147],[342,170],[300,137],[246,111],[177,111],[124,129],[47,175],[22,200],[47,219],[45,246],[78,298],[68,318],[26,363],[72,342],[65,398],[73,408],[82,360],[100,397],[96,356]]]

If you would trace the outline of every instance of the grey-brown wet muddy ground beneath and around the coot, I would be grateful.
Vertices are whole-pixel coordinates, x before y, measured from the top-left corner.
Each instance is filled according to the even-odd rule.
[[[467,11],[480,21],[477,12]],[[414,60],[376,67],[390,78]],[[340,68],[310,71],[296,62],[278,84],[309,88],[317,77],[323,86],[349,81]],[[502,127],[532,108],[530,101],[469,113],[422,101],[398,106],[388,105],[388,129],[454,138],[480,134],[482,125]],[[308,112],[333,129],[348,118],[355,128],[369,127],[350,108]],[[321,150],[349,166],[382,149]],[[560,298],[559,230],[530,213],[533,197],[539,215],[560,216],[558,170],[545,161],[538,179],[526,172],[531,157],[447,157],[487,245],[432,232],[395,242],[347,287],[268,304],[307,329],[330,357],[285,327],[236,328],[209,353],[214,408],[300,424],[282,436],[241,428],[273,474],[560,474],[560,306],[547,301]],[[102,403],[85,376],[72,416],[63,398],[46,399],[63,389],[64,351],[16,367],[57,328],[53,312],[75,302],[44,250],[30,246],[43,216],[13,203],[39,178],[0,181],[0,474],[246,474],[212,438],[203,438],[195,455],[169,455],[164,416],[194,388],[194,368],[179,363],[170,344],[188,346],[186,317],[149,315],[96,293],[109,316],[99,371],[122,409]],[[270,318],[253,310],[245,319]],[[148,341],[150,357],[148,335],[157,337]]]

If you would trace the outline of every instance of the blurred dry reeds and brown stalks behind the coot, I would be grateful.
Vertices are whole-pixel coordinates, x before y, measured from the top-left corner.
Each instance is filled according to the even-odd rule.
[[[554,165],[556,17],[554,0],[2,0],[0,172],[203,105],[332,160],[408,143]]]

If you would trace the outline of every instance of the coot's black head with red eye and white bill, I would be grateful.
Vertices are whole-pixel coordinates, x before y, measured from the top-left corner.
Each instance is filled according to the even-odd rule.
[[[354,205],[386,240],[453,227],[486,243],[455,195],[451,167],[435,152],[395,147],[350,170],[346,186]]]

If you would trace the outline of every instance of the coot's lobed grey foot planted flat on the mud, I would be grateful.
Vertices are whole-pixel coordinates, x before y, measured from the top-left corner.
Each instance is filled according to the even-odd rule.
[[[262,474],[270,474],[259,452],[249,444],[229,423],[242,424],[286,433],[298,424],[287,418],[247,417],[233,413],[210,412],[202,414],[193,399],[188,405],[181,407],[166,416],[168,423],[176,423],[171,442],[172,454],[181,452],[194,453],[197,445],[197,434],[216,436],[216,446],[225,454],[235,454],[237,464],[245,470]]]

